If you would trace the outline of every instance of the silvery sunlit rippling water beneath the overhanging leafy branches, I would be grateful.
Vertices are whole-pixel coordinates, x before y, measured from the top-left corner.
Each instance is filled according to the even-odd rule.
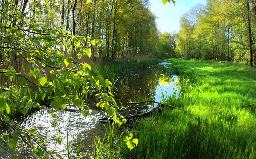
[[[59,154],[64,155],[67,152],[67,137],[68,141],[76,141],[78,137],[82,137],[91,143],[94,135],[102,133],[102,131],[97,131],[102,128],[98,119],[106,116],[102,112],[89,110],[90,114],[84,118],[80,112],[57,111],[57,123],[54,125],[54,118],[48,113],[48,110],[50,108],[28,115],[20,123],[19,127],[20,129],[38,129],[37,132],[45,138],[46,145],[50,151],[56,150]],[[61,144],[58,144],[55,140],[58,135],[63,139]]]

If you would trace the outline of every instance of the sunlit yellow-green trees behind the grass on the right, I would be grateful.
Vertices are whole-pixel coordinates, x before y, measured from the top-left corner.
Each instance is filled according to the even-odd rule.
[[[206,0],[180,18],[178,56],[256,64],[256,1]]]

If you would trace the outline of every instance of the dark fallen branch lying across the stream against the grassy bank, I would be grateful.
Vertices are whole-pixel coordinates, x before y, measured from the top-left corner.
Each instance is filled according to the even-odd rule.
[[[153,113],[154,111],[156,110],[161,110],[161,107],[170,107],[172,109],[179,109],[179,110],[183,110],[179,107],[174,107],[172,105],[167,105],[167,104],[164,104],[164,103],[160,103],[160,102],[157,102],[157,101],[140,101],[140,102],[128,102],[130,104],[141,104],[141,103],[157,103],[158,105],[156,105],[155,107],[153,107],[150,111],[146,111],[144,113],[140,113],[140,114],[135,114],[135,115],[129,115],[129,116],[124,116],[124,117],[120,117],[120,118],[117,118],[117,119],[131,119],[131,118],[137,118],[137,117],[145,117],[145,116],[148,116],[150,115],[150,113]],[[108,121],[110,121],[110,123],[113,122],[113,119],[108,117],[108,118],[100,118],[99,119],[102,123],[107,123]]]

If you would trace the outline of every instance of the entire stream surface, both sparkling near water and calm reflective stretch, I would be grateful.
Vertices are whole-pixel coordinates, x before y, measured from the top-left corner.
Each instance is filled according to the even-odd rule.
[[[138,70],[132,77],[122,77],[116,82],[114,90],[118,105],[122,105],[122,115],[134,113],[137,107],[128,106],[127,102],[154,100],[160,101],[162,97],[172,95],[177,91],[178,76],[172,74],[170,63],[160,63],[148,68]],[[104,127],[98,121],[106,117],[106,113],[90,109],[90,114],[84,118],[76,107],[70,107],[64,111],[56,112],[56,125],[54,118],[48,113],[50,108],[36,111],[32,115],[21,119],[19,129],[38,129],[38,133],[45,138],[47,149],[56,150],[60,155],[66,156],[67,142],[76,144],[84,141],[90,149],[95,135],[104,134]],[[141,110],[140,110],[141,111]],[[55,140],[56,136],[62,137],[62,144]],[[73,155],[75,155],[75,151]],[[1,154],[0,154],[1,155]]]

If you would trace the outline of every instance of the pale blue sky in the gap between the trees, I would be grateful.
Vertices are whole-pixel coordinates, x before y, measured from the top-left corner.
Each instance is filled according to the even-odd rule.
[[[155,14],[156,25],[160,32],[178,32],[180,30],[180,17],[197,3],[206,4],[205,0],[175,0],[175,6],[165,5],[162,0],[150,0],[151,11]]]

